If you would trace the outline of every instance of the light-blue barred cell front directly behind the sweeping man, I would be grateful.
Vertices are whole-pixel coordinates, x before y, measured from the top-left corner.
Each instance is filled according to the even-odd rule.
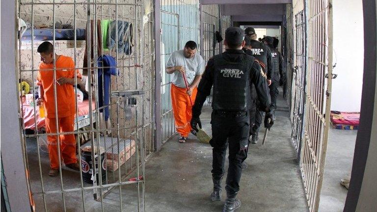
[[[199,1],[161,0],[161,121],[162,143],[175,132],[171,105],[171,76],[166,73],[169,56],[187,41],[199,43]],[[160,141],[159,141],[160,142]]]

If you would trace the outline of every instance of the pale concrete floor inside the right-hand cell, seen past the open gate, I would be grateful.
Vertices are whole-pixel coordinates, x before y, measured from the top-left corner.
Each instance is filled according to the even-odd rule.
[[[356,135],[356,130],[330,129],[319,212],[343,212],[347,189],[340,180],[350,179]]]

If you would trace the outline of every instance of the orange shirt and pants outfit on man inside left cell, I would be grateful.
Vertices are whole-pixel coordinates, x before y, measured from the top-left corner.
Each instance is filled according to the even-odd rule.
[[[75,77],[75,63],[71,57],[60,55],[55,62],[56,80],[61,77]],[[54,64],[41,63],[38,71],[38,85],[44,90],[45,121],[47,133],[56,133],[56,119],[59,132],[74,132],[74,120],[76,113],[75,91],[72,84],[59,85],[54,81]],[[80,73],[77,76],[81,78]],[[55,115],[54,86],[56,86],[57,117]],[[57,135],[47,136],[50,165],[52,169],[59,168],[57,153]],[[76,163],[76,139],[74,134],[59,136],[61,161],[65,164]]]

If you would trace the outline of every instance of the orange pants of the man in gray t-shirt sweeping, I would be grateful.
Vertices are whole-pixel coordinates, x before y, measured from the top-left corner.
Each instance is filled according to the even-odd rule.
[[[191,96],[186,93],[186,88],[180,88],[171,85],[171,104],[173,107],[173,114],[175,119],[175,127],[181,136],[188,136],[191,131],[190,121],[192,117],[192,104],[195,102],[195,97],[197,93],[197,88],[192,91]]]

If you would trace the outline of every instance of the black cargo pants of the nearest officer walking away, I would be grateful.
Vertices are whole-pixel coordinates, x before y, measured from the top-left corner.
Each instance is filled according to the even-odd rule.
[[[225,173],[226,149],[229,146],[229,168],[225,190],[234,194],[240,190],[241,163],[247,158],[248,134],[250,128],[248,112],[212,112],[213,147],[212,177],[220,180]]]

